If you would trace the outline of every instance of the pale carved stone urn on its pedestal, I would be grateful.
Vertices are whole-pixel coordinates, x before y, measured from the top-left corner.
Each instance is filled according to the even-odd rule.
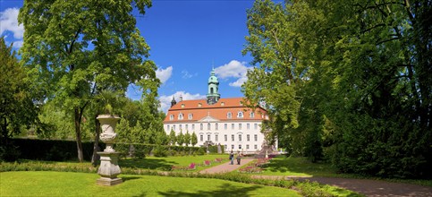
[[[117,176],[122,173],[122,170],[118,166],[119,152],[113,149],[115,142],[115,125],[120,120],[119,116],[112,115],[99,115],[97,120],[100,122],[102,127],[102,133],[100,133],[100,140],[106,143],[106,149],[102,152],[97,152],[100,156],[100,166],[97,169],[97,174],[101,176],[97,179],[97,184],[100,185],[115,185],[123,183],[121,178]]]

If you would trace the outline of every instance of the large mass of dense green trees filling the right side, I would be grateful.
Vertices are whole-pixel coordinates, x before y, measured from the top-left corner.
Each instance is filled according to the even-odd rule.
[[[343,172],[432,177],[430,9],[420,1],[256,1],[242,90],[292,155]]]

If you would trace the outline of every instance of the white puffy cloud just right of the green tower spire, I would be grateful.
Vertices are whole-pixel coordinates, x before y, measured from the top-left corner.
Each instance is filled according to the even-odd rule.
[[[221,65],[215,68],[215,73],[221,79],[234,78],[236,81],[230,82],[229,85],[233,87],[241,87],[241,85],[248,81],[246,73],[251,67],[247,67],[245,62],[232,60],[228,64]]]

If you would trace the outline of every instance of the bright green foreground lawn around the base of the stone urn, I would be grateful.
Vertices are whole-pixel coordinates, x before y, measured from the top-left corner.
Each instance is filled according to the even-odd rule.
[[[292,190],[218,179],[129,176],[114,186],[96,184],[99,176],[67,172],[0,173],[0,196],[300,196]]]

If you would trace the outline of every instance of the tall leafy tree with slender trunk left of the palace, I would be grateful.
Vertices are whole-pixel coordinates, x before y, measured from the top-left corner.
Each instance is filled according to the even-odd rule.
[[[149,0],[95,2],[24,2],[21,63],[38,78],[46,99],[61,103],[74,117],[78,158],[82,161],[80,124],[86,107],[102,90],[123,90],[135,82],[143,92],[160,83],[149,47],[135,27]]]

